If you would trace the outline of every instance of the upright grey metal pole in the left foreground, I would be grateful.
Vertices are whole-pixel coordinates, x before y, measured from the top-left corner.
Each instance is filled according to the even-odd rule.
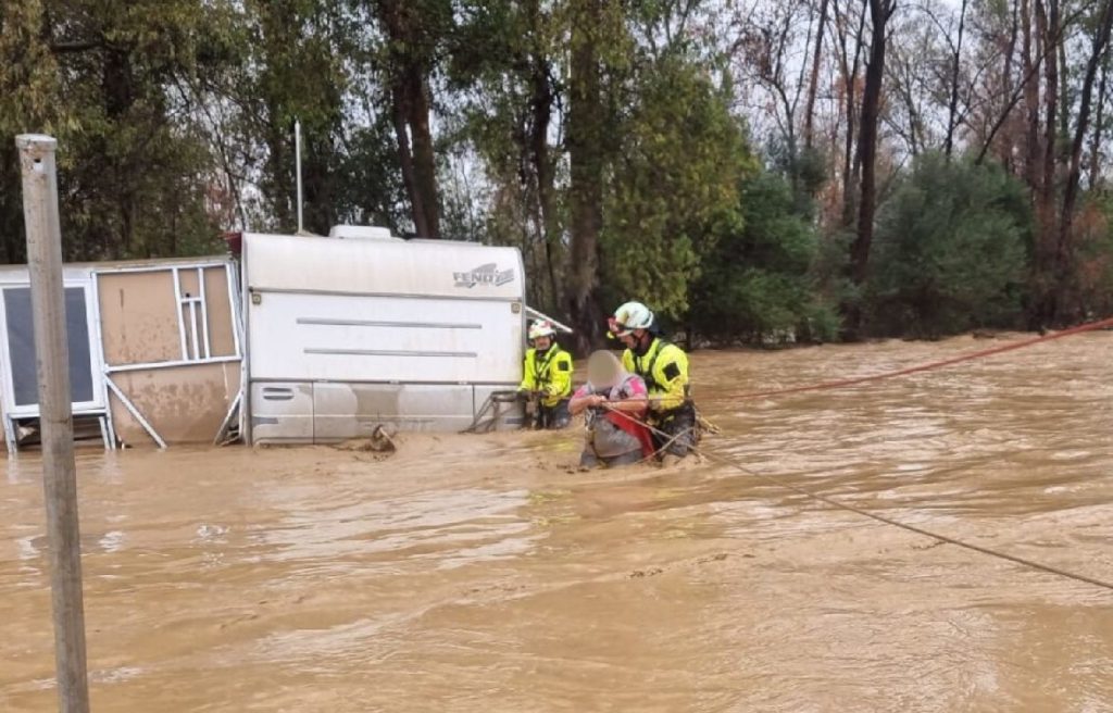
[[[23,174],[23,220],[27,224],[27,260],[31,274],[31,310],[39,377],[42,485],[50,537],[58,710],[61,713],[88,713],[81,536],[55,168],[58,142],[49,136],[22,135],[16,138],[16,147]]]

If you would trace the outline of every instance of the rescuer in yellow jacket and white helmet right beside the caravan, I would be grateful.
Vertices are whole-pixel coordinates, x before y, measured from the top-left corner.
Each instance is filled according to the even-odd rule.
[[[546,320],[530,325],[530,349],[525,353],[519,394],[534,403],[534,428],[565,428],[572,422],[568,413],[572,395],[572,355],[556,344],[556,329]]]

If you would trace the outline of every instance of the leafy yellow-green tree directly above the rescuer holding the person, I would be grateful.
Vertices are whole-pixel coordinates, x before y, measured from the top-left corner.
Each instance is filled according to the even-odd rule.
[[[642,296],[679,317],[701,258],[737,230],[756,169],[741,125],[707,68],[682,53],[641,67],[605,190],[602,271],[612,303]]]

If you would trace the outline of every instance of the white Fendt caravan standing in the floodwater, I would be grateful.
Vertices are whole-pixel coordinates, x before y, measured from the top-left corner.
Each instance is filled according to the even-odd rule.
[[[521,378],[515,248],[381,228],[242,236],[247,437],[327,443],[375,426],[461,430]],[[503,425],[521,423],[520,412]]]

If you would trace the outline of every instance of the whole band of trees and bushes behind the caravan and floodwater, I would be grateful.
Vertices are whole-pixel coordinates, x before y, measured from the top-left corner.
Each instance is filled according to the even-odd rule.
[[[1104,0],[19,0],[12,138],[60,142],[69,259],[223,230],[514,245],[601,338],[639,298],[696,343],[1040,327],[1113,309]]]

